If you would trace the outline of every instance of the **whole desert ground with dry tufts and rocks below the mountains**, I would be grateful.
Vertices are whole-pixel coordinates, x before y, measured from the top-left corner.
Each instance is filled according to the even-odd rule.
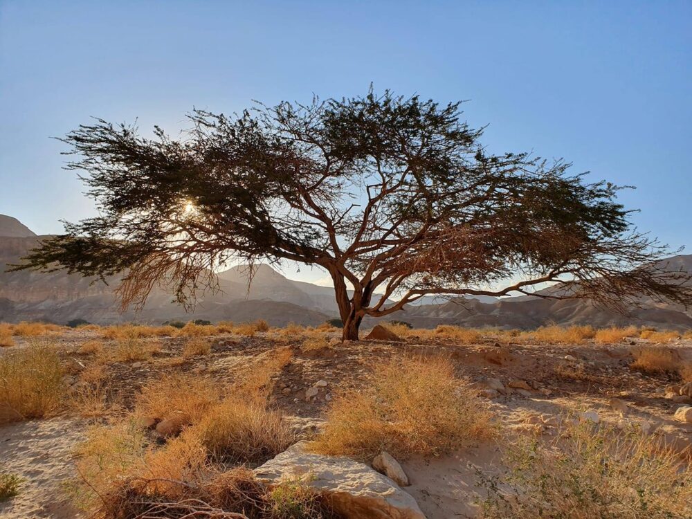
[[[0,325],[0,516],[692,517],[691,333],[383,325]]]

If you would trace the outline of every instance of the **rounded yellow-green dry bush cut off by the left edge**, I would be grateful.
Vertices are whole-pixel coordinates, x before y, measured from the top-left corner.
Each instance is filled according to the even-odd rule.
[[[0,357],[0,408],[6,420],[42,418],[60,408],[64,372],[55,348],[35,344]]]

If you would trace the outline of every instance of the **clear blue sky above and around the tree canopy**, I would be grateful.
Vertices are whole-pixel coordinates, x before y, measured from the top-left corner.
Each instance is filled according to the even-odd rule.
[[[493,152],[636,185],[639,228],[692,253],[692,1],[0,0],[0,213],[39,234],[93,213],[51,139],[90,116],[175,132],[370,82],[468,100]]]

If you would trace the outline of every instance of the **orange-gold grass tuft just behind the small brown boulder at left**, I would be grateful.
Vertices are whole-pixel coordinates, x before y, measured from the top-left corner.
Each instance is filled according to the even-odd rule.
[[[183,417],[196,423],[219,403],[219,389],[209,379],[176,374],[153,381],[138,395],[135,412],[154,418]]]

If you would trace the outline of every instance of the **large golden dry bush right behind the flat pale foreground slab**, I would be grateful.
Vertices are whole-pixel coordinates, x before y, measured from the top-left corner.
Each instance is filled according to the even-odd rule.
[[[441,455],[494,434],[489,410],[444,358],[381,367],[369,390],[338,394],[328,419],[313,449],[363,460],[382,450],[401,458]]]

